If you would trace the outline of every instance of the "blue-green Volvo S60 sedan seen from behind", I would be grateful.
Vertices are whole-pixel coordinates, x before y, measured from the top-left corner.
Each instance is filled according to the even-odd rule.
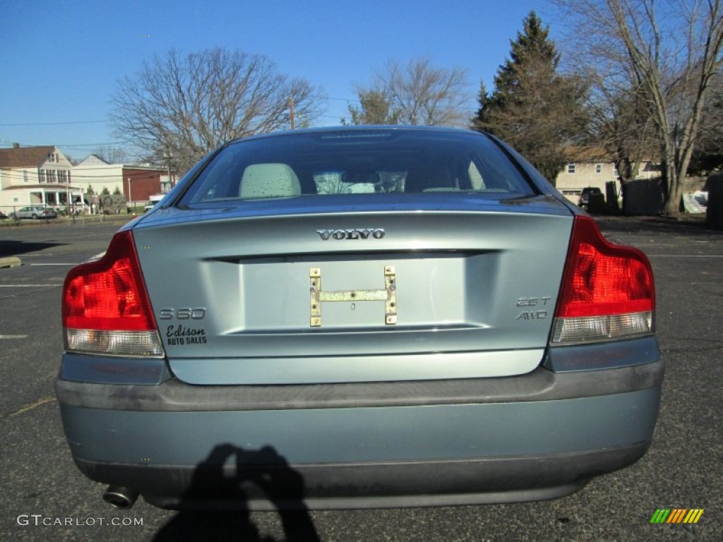
[[[107,502],[549,499],[649,447],[650,263],[495,137],[249,137],[165,201],[62,293],[61,418]]]

